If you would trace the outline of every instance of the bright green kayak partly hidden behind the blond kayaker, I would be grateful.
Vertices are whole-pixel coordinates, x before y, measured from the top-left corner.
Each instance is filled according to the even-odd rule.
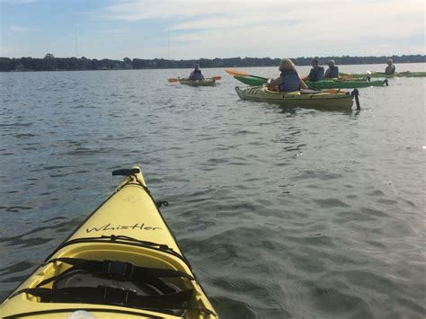
[[[261,86],[263,84],[266,84],[267,81],[264,78],[254,77],[251,75],[235,75],[234,77],[236,80],[250,86]],[[387,80],[368,81],[367,78],[357,78],[356,80],[327,79],[317,82],[305,81],[305,83],[308,87],[314,89],[356,89],[369,86],[385,86],[387,85]]]

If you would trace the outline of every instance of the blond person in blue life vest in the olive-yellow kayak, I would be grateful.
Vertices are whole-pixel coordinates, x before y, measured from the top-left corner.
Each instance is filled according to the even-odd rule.
[[[280,92],[294,92],[307,89],[305,82],[297,74],[296,66],[289,58],[284,58],[280,63],[280,77],[268,80],[268,88],[278,87]]]

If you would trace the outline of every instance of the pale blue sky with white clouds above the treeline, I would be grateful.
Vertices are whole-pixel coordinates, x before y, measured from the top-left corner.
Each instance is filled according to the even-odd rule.
[[[0,57],[425,54],[418,0],[0,0]]]

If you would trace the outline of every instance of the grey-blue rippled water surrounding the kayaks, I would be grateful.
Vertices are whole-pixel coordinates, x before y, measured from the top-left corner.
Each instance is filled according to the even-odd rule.
[[[425,317],[426,80],[291,111],[190,71],[0,74],[0,297],[140,164],[222,318]]]

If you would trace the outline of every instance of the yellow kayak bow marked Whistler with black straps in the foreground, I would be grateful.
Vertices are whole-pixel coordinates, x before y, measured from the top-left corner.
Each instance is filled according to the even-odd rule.
[[[141,170],[0,306],[1,318],[217,318]]]

